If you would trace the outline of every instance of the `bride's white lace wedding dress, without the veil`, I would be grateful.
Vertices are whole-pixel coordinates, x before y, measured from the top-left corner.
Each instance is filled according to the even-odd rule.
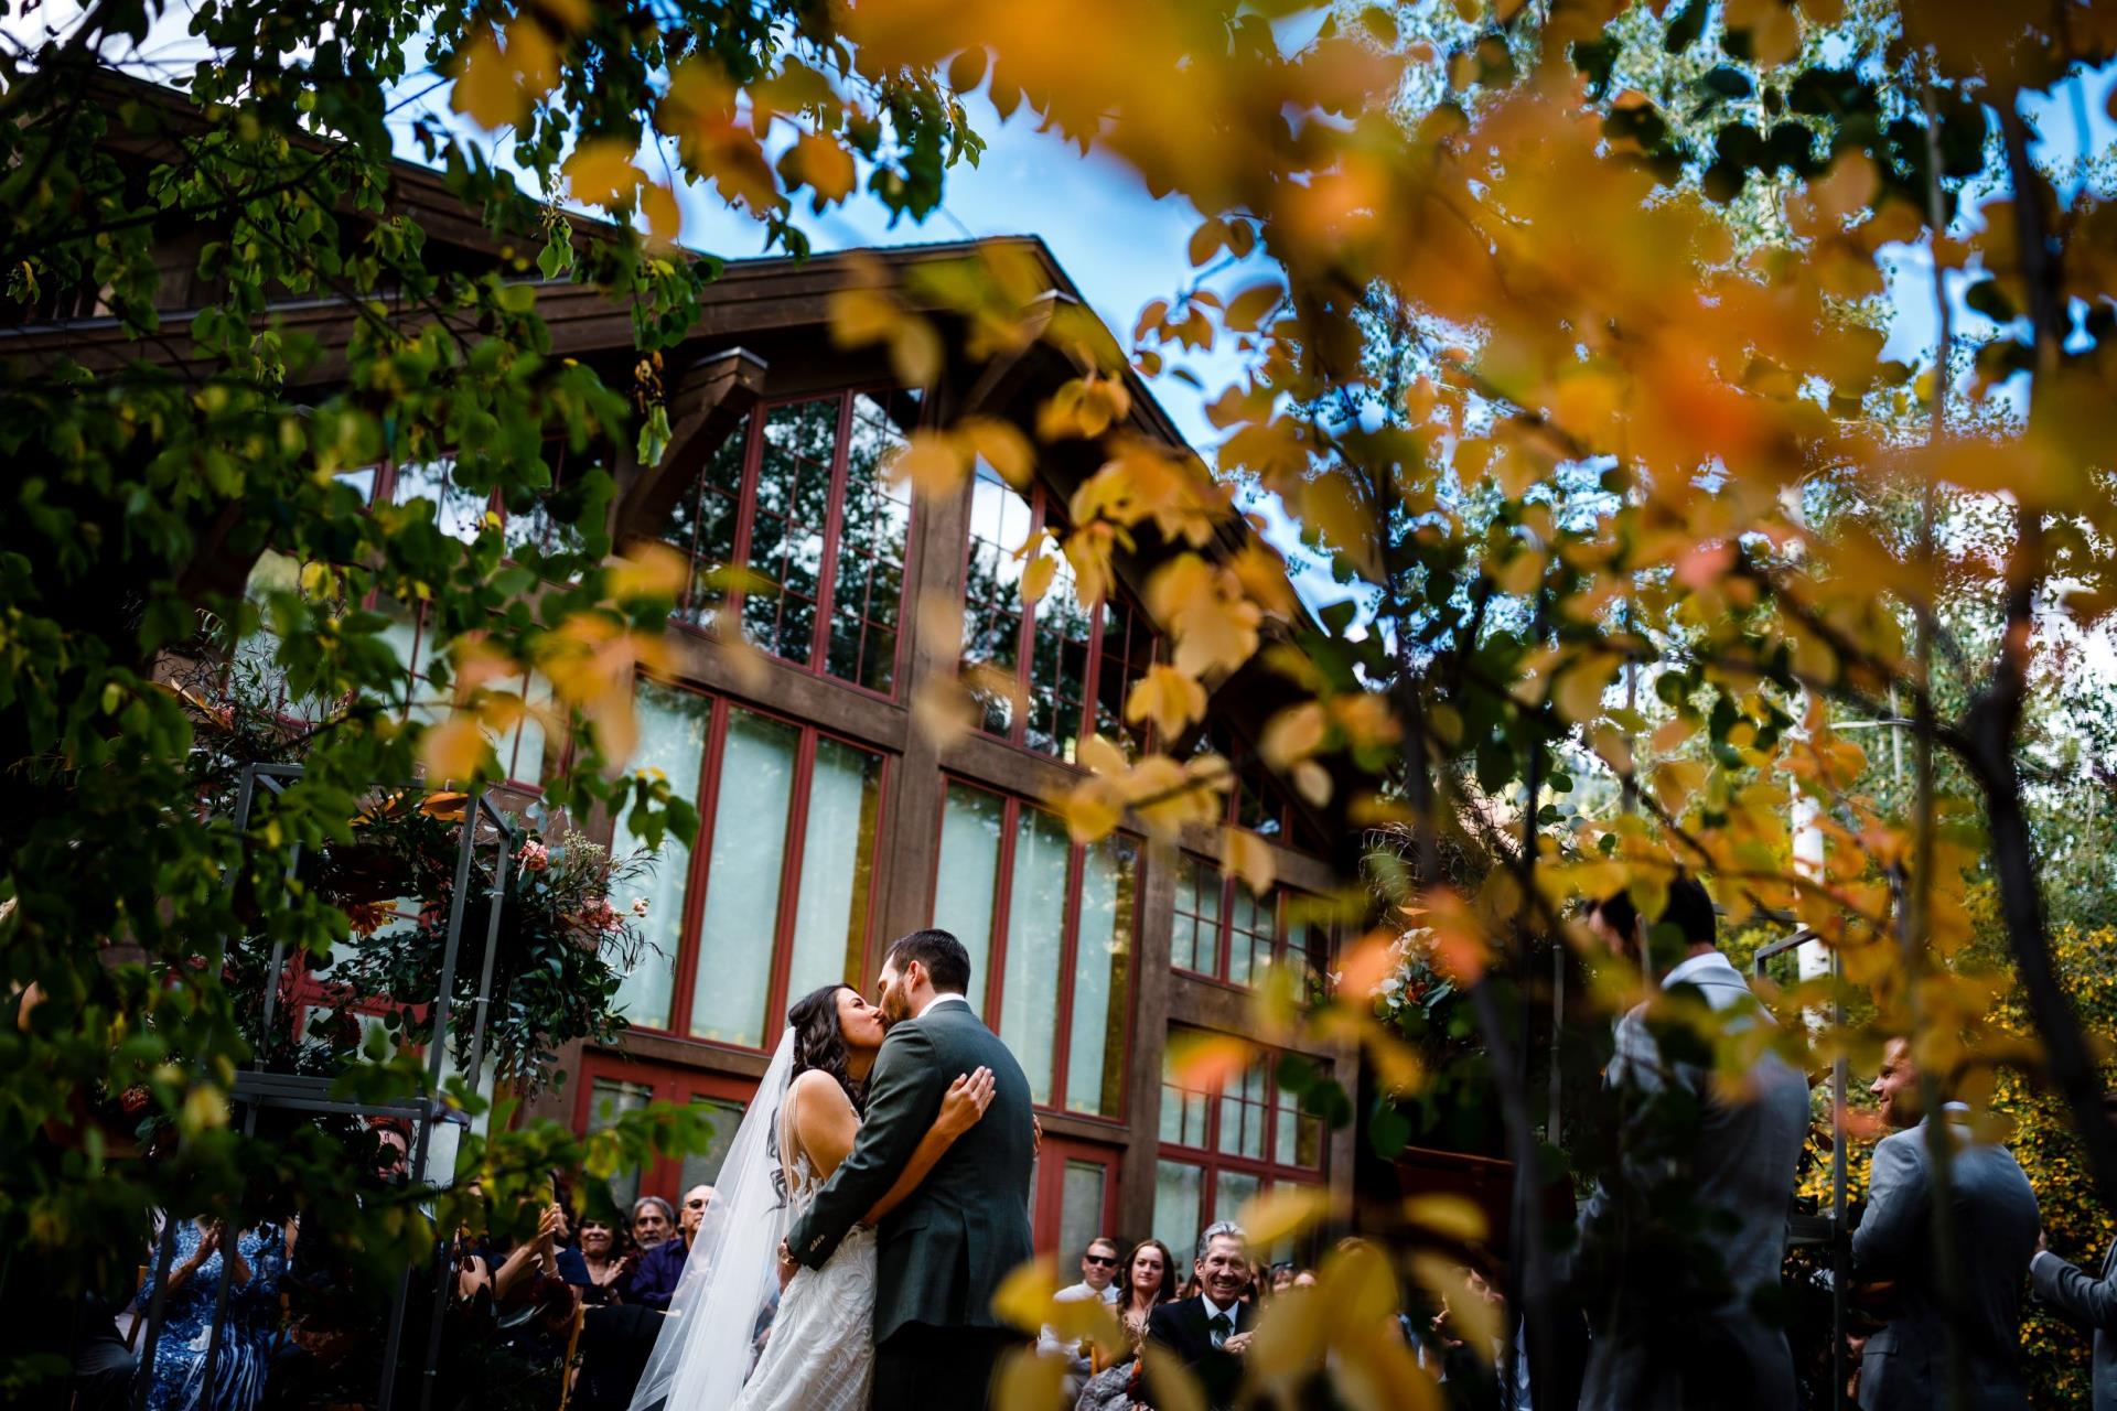
[[[781,1151],[794,1153],[785,1168],[788,1216],[800,1218],[824,1183],[792,1134]],[[874,1231],[855,1225],[821,1269],[802,1267],[788,1280],[764,1356],[743,1381],[735,1411],[868,1411],[872,1379]]]

